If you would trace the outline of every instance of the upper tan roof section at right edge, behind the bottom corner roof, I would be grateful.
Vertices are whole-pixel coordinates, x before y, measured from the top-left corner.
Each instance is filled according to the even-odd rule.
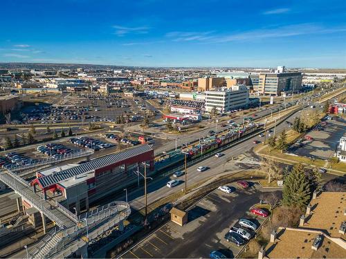
[[[316,199],[311,200],[311,218],[308,218],[308,229],[324,229],[333,238],[345,236],[338,233],[342,222],[346,221],[344,211],[346,209],[345,192],[322,192]]]

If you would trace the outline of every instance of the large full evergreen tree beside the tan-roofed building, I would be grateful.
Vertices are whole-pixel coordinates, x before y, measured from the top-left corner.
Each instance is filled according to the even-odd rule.
[[[311,189],[309,180],[302,164],[295,164],[289,175],[284,179],[282,191],[283,204],[293,207],[304,207],[310,200]]]

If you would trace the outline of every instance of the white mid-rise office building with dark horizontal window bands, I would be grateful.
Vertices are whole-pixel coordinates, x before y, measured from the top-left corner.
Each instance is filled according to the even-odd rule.
[[[233,86],[231,89],[219,91],[206,91],[206,111],[215,107],[221,112],[248,105],[248,88],[246,86]]]

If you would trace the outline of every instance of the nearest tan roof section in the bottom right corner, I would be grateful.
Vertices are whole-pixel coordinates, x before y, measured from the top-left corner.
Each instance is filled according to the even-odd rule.
[[[322,232],[280,228],[275,242],[266,246],[266,258],[346,258],[346,250],[327,236],[317,251],[311,249],[318,234]]]

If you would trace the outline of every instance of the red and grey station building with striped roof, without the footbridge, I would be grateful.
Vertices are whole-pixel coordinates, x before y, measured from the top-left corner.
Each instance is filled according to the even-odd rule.
[[[70,211],[80,213],[90,202],[141,178],[136,172],[143,174],[143,162],[149,165],[148,173],[154,170],[154,150],[147,144],[84,164],[39,171],[31,184],[35,191],[43,191],[45,199],[55,198]]]

